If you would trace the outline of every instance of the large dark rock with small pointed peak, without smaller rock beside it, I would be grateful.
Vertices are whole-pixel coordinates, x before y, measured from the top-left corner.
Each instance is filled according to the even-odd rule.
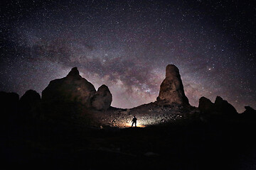
[[[95,87],[82,78],[78,68],[74,67],[66,77],[50,81],[50,84],[43,90],[44,113],[58,118],[60,118],[59,115],[74,117],[83,108],[91,108],[95,92]]]

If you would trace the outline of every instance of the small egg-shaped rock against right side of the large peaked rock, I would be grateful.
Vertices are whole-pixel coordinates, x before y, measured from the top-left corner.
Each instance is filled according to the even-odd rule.
[[[92,98],[92,107],[99,110],[105,111],[110,108],[112,103],[112,94],[110,93],[110,89],[103,84],[97,90],[95,96]]]

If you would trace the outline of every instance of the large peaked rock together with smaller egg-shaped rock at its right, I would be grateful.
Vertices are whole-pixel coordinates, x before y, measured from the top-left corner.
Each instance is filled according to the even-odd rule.
[[[51,118],[85,118],[92,108],[102,111],[110,108],[112,94],[106,85],[98,91],[82,78],[74,67],[62,79],[50,81],[42,92],[43,112]]]

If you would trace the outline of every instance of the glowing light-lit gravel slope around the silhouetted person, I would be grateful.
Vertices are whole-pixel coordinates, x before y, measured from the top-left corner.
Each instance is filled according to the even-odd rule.
[[[132,125],[132,118],[137,117],[137,126],[146,127],[170,123],[199,113],[198,108],[191,106],[157,106],[149,103],[131,109],[111,108],[108,111],[90,111],[93,120],[98,125],[109,125],[118,128],[127,128]]]

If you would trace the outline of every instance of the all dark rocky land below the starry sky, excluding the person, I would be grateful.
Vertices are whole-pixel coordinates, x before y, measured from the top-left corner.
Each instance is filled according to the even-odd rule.
[[[136,108],[112,108],[107,86],[76,67],[42,97],[2,91],[0,103],[0,169],[256,169],[256,111],[220,96],[190,106],[173,64],[156,101]],[[145,128],[127,128],[134,115]]]

